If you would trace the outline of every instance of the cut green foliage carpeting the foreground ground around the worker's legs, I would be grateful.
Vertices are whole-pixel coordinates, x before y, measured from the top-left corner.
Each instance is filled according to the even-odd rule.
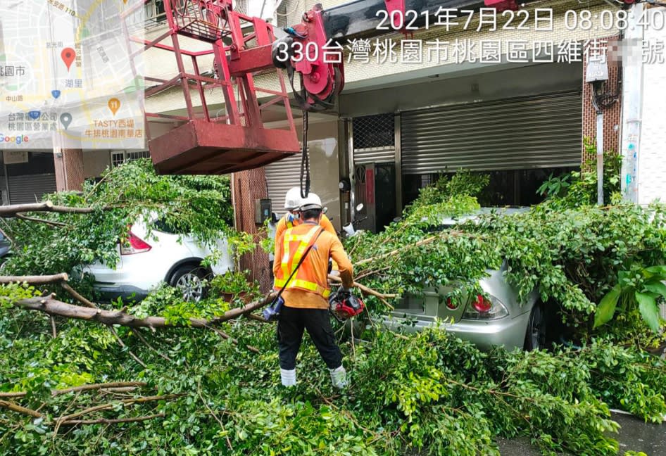
[[[337,395],[309,339],[299,357],[299,386],[279,385],[272,325],[223,324],[239,345],[213,331],[120,329],[123,348],[103,327],[58,322],[52,338],[47,317],[14,312],[0,319],[0,348],[13,360],[0,366],[0,390],[30,391],[16,401],[34,409],[44,404],[44,419],[35,424],[0,409],[2,455],[42,454],[42,448],[91,455],[498,455],[496,436],[530,438],[544,454],[615,455],[617,424],[607,400],[653,421],[664,410],[663,361],[607,341],[553,354],[481,353],[444,331],[401,337],[379,331],[354,349],[342,343],[351,384]],[[653,369],[660,376],[649,375]],[[121,380],[148,384],[130,393],[135,397],[184,395],[84,416],[164,417],[62,426],[56,436],[54,422],[63,414],[127,396],[52,396],[52,389]]]

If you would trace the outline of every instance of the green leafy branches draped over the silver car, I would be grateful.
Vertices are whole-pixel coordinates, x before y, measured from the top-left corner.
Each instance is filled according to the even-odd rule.
[[[633,264],[666,262],[662,205],[562,207],[553,200],[527,212],[495,210],[477,215],[472,222],[451,226],[451,219],[473,214],[479,205],[474,196],[431,191],[446,189],[446,183],[444,179],[444,184],[438,182],[422,191],[423,198],[417,198],[406,210],[403,220],[384,232],[348,239],[346,247],[356,263],[355,273],[366,284],[401,295],[418,295],[425,287],[453,284],[472,292],[478,290],[486,270],[498,269],[505,260],[505,277],[515,286],[521,302],[536,290],[543,303],[562,310],[577,338],[586,339],[600,326],[593,324],[593,318],[609,312],[612,315],[615,310],[612,294],[605,300],[603,297],[616,285],[620,272]],[[444,220],[449,224],[443,225]],[[642,306],[636,308],[642,309],[643,319],[647,317],[644,321],[658,329],[654,298],[662,289],[655,288],[660,287],[655,274],[650,274],[651,280],[646,277],[651,290],[640,286],[632,293],[646,294],[641,297]],[[377,309],[385,308],[375,300],[370,303]],[[601,303],[601,312],[595,314],[596,303]],[[636,318],[627,312],[625,317],[630,321],[627,324],[624,320],[622,328],[626,331],[630,327],[631,331],[620,338],[645,332],[639,315]]]

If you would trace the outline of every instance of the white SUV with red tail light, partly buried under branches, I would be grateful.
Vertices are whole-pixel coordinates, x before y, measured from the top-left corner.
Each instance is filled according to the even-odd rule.
[[[129,245],[117,247],[120,260],[115,269],[101,262],[84,267],[84,272],[94,275],[94,289],[103,298],[141,299],[166,282],[180,288],[185,300],[199,301],[206,294],[201,279],[234,269],[229,244],[222,236],[215,242],[219,260],[205,268],[201,261],[213,253],[211,248],[202,246],[193,236],[170,232],[156,219],[151,227],[150,235],[142,222],[130,227]]]

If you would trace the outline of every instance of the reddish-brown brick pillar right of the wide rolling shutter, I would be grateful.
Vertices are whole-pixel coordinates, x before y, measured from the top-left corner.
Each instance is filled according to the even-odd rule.
[[[607,46],[615,46],[615,39],[607,37],[603,39],[607,42]],[[604,46],[604,47],[607,47]],[[612,52],[611,52],[612,53]],[[592,87],[591,84],[585,82],[585,72],[587,68],[587,53],[585,53],[583,63],[583,137],[592,139],[593,144],[596,144],[596,110],[592,106]],[[604,93],[617,94],[617,101],[612,103],[608,108],[603,109],[603,148],[605,151],[620,150],[620,116],[622,115],[622,99],[620,87],[620,65],[608,59],[608,81],[603,87]],[[582,163],[594,158],[592,154],[585,153],[583,148]]]

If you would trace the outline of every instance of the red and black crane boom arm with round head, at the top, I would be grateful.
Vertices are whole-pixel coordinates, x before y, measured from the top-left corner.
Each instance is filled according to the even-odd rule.
[[[324,11],[316,4],[303,13],[301,23],[285,27],[286,37],[272,46],[272,61],[286,68],[296,101],[303,110],[326,110],[344,87],[342,49],[354,39],[369,39],[391,32],[413,32],[434,23],[441,8],[458,11],[497,11],[519,8],[516,0],[356,0]],[[407,21],[406,13],[410,14]],[[406,24],[410,30],[406,30]],[[301,93],[294,76],[301,80]]]

